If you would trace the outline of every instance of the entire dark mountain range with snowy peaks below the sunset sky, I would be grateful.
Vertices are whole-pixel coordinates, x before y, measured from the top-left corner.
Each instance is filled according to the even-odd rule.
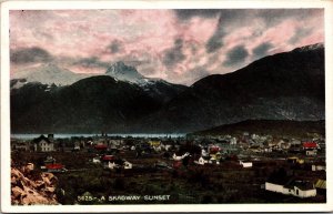
[[[34,80],[11,80],[13,133],[193,132],[245,120],[325,118],[323,44],[269,55],[191,86],[144,78],[123,62],[64,86]]]

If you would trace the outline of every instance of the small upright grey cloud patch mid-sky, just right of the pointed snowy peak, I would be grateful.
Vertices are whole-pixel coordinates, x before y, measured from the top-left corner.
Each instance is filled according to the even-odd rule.
[[[182,62],[185,59],[182,49],[183,40],[176,39],[174,41],[174,45],[164,52],[163,63],[167,65],[167,68],[173,68],[174,64]]]

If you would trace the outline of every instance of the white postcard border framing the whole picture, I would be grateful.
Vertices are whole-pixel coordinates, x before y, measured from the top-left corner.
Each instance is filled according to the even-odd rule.
[[[326,84],[326,169],[325,204],[191,204],[191,205],[33,205],[12,206],[10,200],[10,102],[9,102],[9,10],[32,9],[254,9],[324,8],[325,10],[325,84]],[[1,211],[14,213],[88,212],[332,212],[333,174],[333,1],[242,0],[242,1],[6,1],[1,3]]]

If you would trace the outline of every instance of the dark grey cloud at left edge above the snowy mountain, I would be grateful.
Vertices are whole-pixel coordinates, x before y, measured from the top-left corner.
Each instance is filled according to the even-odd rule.
[[[38,47],[10,50],[10,61],[17,64],[33,63],[33,62],[50,62],[52,55]]]

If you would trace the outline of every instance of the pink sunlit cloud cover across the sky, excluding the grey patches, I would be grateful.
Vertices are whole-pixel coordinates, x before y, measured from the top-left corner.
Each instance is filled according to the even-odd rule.
[[[10,48],[39,47],[74,72],[97,73],[104,70],[74,67],[72,60],[63,59],[97,57],[105,63],[128,61],[149,77],[181,82],[182,75],[191,77],[190,72],[196,68],[204,68],[210,73],[238,69],[223,67],[228,51],[235,45],[244,45],[252,54],[255,47],[269,42],[272,48],[268,54],[273,54],[324,41],[323,11],[315,10],[302,20],[286,17],[274,27],[265,26],[261,18],[253,18],[251,22],[225,20],[222,27],[225,35],[221,38],[223,47],[208,53],[206,42],[215,33],[218,24],[219,16],[193,16],[179,20],[172,10],[18,10],[10,11]],[[297,29],[304,28],[310,29],[309,34],[300,37],[295,43],[289,42]],[[176,39],[183,41],[181,51],[184,59],[174,64],[171,71],[163,64],[163,58]],[[121,43],[118,52],[109,50],[113,41]],[[238,67],[251,60],[250,55]],[[12,64],[12,68],[14,72],[20,65]],[[191,83],[190,79],[186,81]]]

